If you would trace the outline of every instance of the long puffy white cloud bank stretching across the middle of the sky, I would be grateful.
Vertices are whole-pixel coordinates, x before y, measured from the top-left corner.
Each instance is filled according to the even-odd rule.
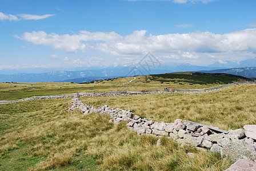
[[[110,55],[139,55],[146,52],[183,54],[195,59],[195,53],[256,52],[256,28],[214,34],[213,32],[191,32],[187,34],[163,34],[146,36],[146,30],[137,30],[122,36],[116,32],[80,31],[79,34],[58,35],[44,31],[25,32],[17,38],[34,44],[43,44],[66,52],[98,50]]]

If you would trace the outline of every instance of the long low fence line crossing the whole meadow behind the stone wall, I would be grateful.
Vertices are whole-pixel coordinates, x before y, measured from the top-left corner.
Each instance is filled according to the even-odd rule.
[[[42,99],[59,99],[65,97],[74,97],[75,95],[79,96],[118,96],[118,95],[138,95],[138,94],[147,94],[147,93],[168,93],[168,92],[187,92],[187,93],[205,93],[211,91],[217,91],[218,89],[238,86],[241,84],[255,84],[256,80],[251,82],[236,82],[225,84],[216,87],[203,88],[203,89],[145,89],[142,91],[110,91],[110,92],[79,92],[79,93],[71,93],[67,95],[49,95],[49,96],[33,96],[26,99],[18,99],[18,100],[1,100],[0,104],[9,104],[15,103],[18,101],[27,101],[27,100],[42,100]]]

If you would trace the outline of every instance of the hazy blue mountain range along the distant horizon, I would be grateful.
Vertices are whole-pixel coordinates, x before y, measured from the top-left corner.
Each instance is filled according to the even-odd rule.
[[[255,62],[256,59],[247,62]],[[246,62],[245,62],[246,63]],[[244,76],[246,78],[256,78],[256,67],[242,67],[223,69],[221,64],[215,64],[211,67],[193,66],[191,64],[181,64],[178,66],[160,66],[160,67],[109,67],[96,70],[84,71],[51,71],[41,74],[0,74],[0,82],[74,82],[83,83],[93,80],[109,79],[122,76],[165,74],[170,72],[197,71],[206,73],[226,73]]]

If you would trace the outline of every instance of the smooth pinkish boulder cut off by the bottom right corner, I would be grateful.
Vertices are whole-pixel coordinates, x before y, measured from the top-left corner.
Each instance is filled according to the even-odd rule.
[[[235,170],[237,171],[238,170],[243,170],[243,171],[256,170],[256,162],[251,160],[246,160],[246,159],[239,159],[224,171],[235,171]]]

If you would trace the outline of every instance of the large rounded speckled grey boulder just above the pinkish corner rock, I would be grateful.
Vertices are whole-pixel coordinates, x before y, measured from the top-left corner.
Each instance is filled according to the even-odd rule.
[[[256,160],[256,150],[253,145],[246,144],[243,140],[231,141],[222,149],[222,155],[230,156],[231,160],[239,159]]]

